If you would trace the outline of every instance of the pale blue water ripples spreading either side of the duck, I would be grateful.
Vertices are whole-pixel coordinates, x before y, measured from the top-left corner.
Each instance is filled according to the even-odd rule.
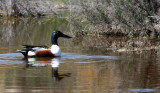
[[[73,54],[73,53],[62,53],[62,60],[66,59],[112,59],[112,60],[118,60],[119,58],[116,56],[104,56],[104,55],[80,55],[80,54]],[[23,55],[21,53],[6,53],[6,54],[0,54],[0,64],[22,64],[24,63]],[[39,60],[40,61],[40,60]],[[93,60],[92,60],[93,61]],[[92,62],[90,60],[90,62]],[[100,62],[99,60],[98,62]],[[36,61],[38,62],[38,61]],[[75,62],[75,63],[90,63],[90,62]]]

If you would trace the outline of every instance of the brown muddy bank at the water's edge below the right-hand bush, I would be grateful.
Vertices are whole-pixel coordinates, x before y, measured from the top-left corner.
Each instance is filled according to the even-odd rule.
[[[89,30],[75,31],[74,35],[73,42],[85,48],[105,48],[119,52],[160,49],[160,20],[144,28],[134,29],[122,25],[96,24],[90,26]]]

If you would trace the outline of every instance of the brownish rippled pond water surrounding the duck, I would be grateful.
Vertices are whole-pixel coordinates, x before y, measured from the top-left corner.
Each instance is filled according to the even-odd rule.
[[[159,50],[119,53],[94,47],[101,41],[87,42],[88,36],[59,39],[59,58],[24,58],[17,52],[21,45],[51,46],[54,29],[74,37],[68,22],[54,17],[0,24],[1,93],[160,93]]]

